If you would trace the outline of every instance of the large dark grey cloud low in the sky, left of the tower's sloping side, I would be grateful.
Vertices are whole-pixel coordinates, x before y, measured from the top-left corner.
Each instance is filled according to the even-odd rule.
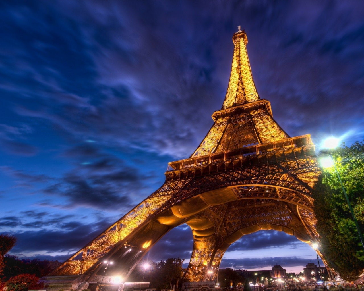
[[[82,164],[50,184],[44,192],[67,198],[69,203],[65,207],[68,208],[85,206],[125,211],[133,203],[130,195],[140,192],[142,180],[150,178],[116,157],[92,157]]]

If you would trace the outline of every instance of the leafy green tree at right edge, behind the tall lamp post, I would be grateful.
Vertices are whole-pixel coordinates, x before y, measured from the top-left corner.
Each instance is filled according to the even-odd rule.
[[[343,144],[331,154],[363,232],[364,144],[355,142],[351,147]],[[329,267],[343,279],[355,280],[364,269],[364,249],[333,167],[323,169],[312,196],[316,229],[321,236],[319,249]]]

